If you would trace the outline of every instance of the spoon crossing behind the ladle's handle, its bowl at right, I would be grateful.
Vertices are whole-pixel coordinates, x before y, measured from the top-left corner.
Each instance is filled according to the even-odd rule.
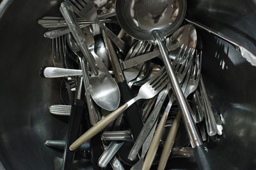
[[[177,29],[177,31],[173,32],[170,38],[166,39],[166,48],[169,51],[169,57],[171,57],[171,59],[175,59],[175,56],[177,55],[175,50],[182,45],[188,46],[188,48],[195,48],[196,39],[197,37],[195,27],[193,27],[193,25],[183,25]],[[124,69],[127,69],[129,67],[136,66],[141,62],[154,59],[155,57],[161,57],[159,50],[155,50],[154,52],[146,53],[144,55],[125,60],[122,62],[122,66]]]

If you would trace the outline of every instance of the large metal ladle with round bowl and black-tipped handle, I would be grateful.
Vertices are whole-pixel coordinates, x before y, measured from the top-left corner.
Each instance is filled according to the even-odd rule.
[[[163,37],[168,36],[179,27],[184,20],[185,13],[186,0],[116,1],[116,17],[122,29],[136,39],[156,41],[172,90],[179,103],[191,146],[195,148],[198,166],[200,169],[210,169],[209,164],[207,164],[205,148],[202,146],[202,140],[191,117],[193,111],[182,93],[168,52],[162,42]]]

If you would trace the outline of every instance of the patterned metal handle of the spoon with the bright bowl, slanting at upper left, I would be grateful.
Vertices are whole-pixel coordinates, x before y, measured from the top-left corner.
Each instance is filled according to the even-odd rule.
[[[96,62],[92,56],[92,53],[89,52],[87,45],[86,45],[86,39],[85,35],[83,34],[83,31],[79,27],[79,24],[77,24],[77,20],[75,17],[75,14],[72,10],[70,10],[67,3],[61,3],[60,7],[61,14],[65,18],[65,21],[68,24],[68,27],[70,31],[72,32],[73,37],[76,40],[77,46],[80,48],[81,52],[83,53],[83,57],[88,61],[90,64],[90,67],[95,75],[99,74],[99,70],[96,66]]]

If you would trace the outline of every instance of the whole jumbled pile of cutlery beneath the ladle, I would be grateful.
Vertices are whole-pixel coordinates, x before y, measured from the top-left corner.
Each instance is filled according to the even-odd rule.
[[[207,95],[193,25],[209,28],[183,18],[168,36],[152,31],[154,41],[136,39],[113,4],[65,0],[63,17],[38,20],[52,41],[54,67],[44,76],[61,80],[62,103],[49,112],[69,117],[67,138],[45,145],[64,150],[62,169],[72,169],[80,153],[94,169],[164,169],[168,160],[188,157],[211,169],[207,144],[218,142],[223,122]]]

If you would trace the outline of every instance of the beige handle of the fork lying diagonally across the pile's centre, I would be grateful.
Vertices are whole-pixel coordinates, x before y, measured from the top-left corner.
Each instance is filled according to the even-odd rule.
[[[91,139],[93,136],[95,136],[97,133],[102,131],[105,127],[107,127],[115,118],[117,118],[123,111],[125,111],[128,108],[128,104],[125,103],[123,106],[120,106],[117,110],[110,113],[107,117],[100,120],[97,124],[95,124],[93,127],[91,127],[88,131],[86,131],[82,136],[80,136],[72,145],[70,145],[70,150],[75,150],[79,146],[83,145],[86,141]]]

